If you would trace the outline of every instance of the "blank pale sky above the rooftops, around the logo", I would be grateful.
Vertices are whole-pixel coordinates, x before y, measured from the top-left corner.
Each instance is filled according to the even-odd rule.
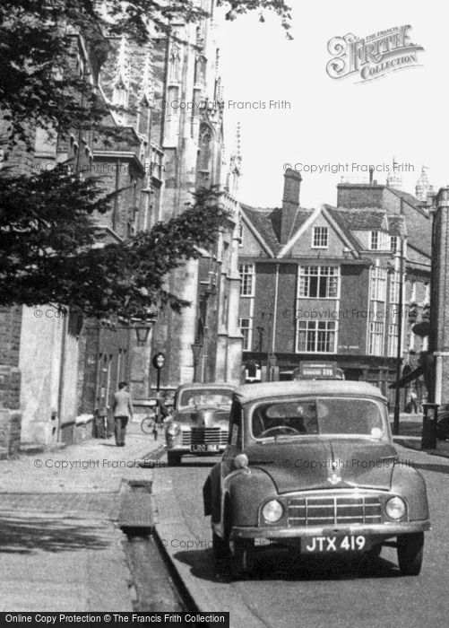
[[[300,204],[336,202],[341,177],[367,182],[367,166],[384,183],[393,157],[402,164],[402,188],[412,194],[422,166],[436,189],[449,184],[445,97],[449,7],[436,0],[359,0],[338,3],[290,0],[291,33],[272,16],[256,14],[220,24],[226,143],[241,125],[243,177],[239,200],[255,206],[281,204],[284,164],[301,171]],[[418,66],[361,82],[359,74],[332,79],[328,41],[353,33],[366,38],[410,24]],[[278,108],[270,101],[287,101]],[[229,102],[231,101],[231,102]],[[233,103],[255,103],[254,106]],[[264,103],[264,109],[263,109]],[[242,107],[244,109],[242,109]],[[343,164],[326,172],[326,164]],[[349,164],[345,166],[345,164]],[[356,165],[352,165],[356,164]],[[307,168],[322,167],[322,172]],[[329,167],[329,166],[327,166]]]

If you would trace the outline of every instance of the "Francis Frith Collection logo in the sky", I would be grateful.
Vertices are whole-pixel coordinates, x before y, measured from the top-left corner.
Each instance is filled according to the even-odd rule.
[[[352,33],[333,37],[327,44],[332,59],[326,72],[332,79],[358,76],[358,83],[381,78],[395,70],[419,65],[418,53],[422,46],[410,41],[410,24],[395,26],[365,38]]]

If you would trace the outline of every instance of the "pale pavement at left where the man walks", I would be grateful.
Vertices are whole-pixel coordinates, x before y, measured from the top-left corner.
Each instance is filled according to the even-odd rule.
[[[125,447],[94,439],[0,460],[0,611],[132,611],[117,519],[128,483],[151,481],[162,449],[162,433],[130,423]]]

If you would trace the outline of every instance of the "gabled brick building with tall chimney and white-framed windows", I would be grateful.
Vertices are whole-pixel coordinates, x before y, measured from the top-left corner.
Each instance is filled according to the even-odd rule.
[[[415,294],[407,285],[404,363],[420,349],[410,345],[407,305],[420,308],[413,322],[423,315],[428,211],[414,197],[376,183],[341,184],[337,206],[305,209],[300,184],[300,174],[289,170],[281,207],[242,205],[240,328],[247,374],[259,375],[255,365],[262,364],[263,379],[289,379],[301,363],[332,362],[347,379],[372,381],[391,395],[405,277],[415,283]]]

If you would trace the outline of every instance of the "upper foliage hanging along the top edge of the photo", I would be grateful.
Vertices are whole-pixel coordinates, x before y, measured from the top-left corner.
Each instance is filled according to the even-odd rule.
[[[229,20],[259,10],[281,16],[289,29],[284,0],[219,0]],[[106,7],[106,8],[105,8]],[[95,84],[73,70],[68,37],[82,33],[104,59],[104,32],[125,34],[139,43],[150,37],[148,24],[169,32],[170,22],[196,22],[207,15],[196,0],[2,0],[0,4],[0,103],[9,123],[6,138],[26,139],[30,120],[56,132],[99,123],[105,115]]]

